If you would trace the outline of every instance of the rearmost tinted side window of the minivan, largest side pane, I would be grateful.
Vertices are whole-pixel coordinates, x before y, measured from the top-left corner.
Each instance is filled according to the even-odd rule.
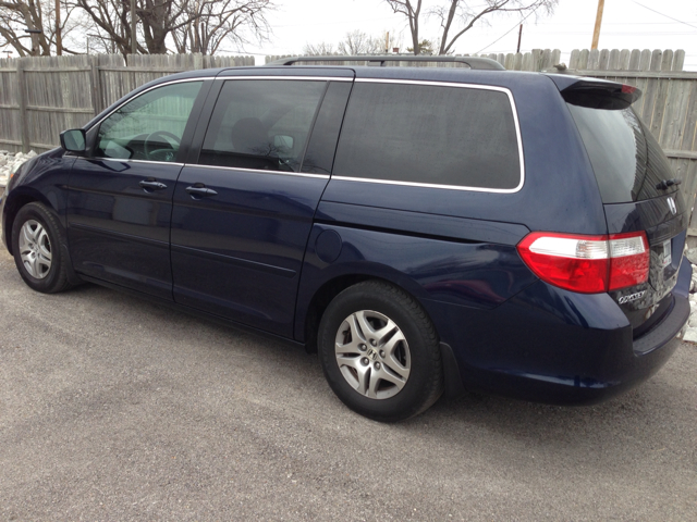
[[[333,174],[514,190],[522,174],[509,96],[466,87],[358,83]]]

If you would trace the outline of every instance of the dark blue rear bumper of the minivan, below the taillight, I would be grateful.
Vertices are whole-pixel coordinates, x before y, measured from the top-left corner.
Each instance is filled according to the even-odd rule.
[[[427,309],[468,390],[594,403],[646,381],[673,355],[689,316],[690,276],[684,260],[671,309],[637,339],[609,295],[584,296],[541,282],[491,311],[433,301]]]

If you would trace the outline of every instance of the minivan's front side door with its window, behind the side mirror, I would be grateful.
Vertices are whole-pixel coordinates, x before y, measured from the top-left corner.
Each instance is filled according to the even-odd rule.
[[[203,80],[156,87],[90,132],[91,151],[69,182],[68,240],[75,271],[172,299],[170,219]],[[192,116],[194,114],[194,116]]]

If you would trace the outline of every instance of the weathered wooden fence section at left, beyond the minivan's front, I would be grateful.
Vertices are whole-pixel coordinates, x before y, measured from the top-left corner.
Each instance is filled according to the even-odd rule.
[[[254,65],[252,57],[120,54],[0,59],[0,149],[42,152],[136,87],[168,74]]]

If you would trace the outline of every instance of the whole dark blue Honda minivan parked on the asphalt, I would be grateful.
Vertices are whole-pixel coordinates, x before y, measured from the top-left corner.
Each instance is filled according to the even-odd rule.
[[[21,276],[302,344],[380,421],[465,389],[589,403],[667,361],[689,207],[636,88],[339,60],[168,76],[63,133],[0,201]]]

